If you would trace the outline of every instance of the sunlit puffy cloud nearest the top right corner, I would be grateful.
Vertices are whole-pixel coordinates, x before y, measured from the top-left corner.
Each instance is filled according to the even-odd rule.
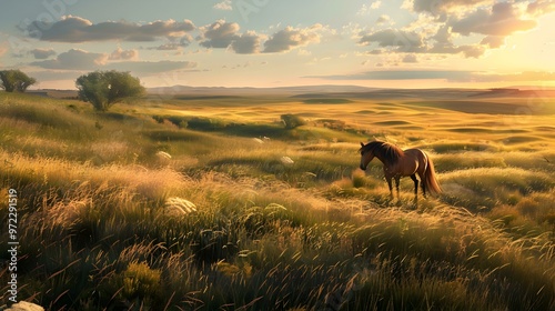
[[[535,20],[521,17],[518,9],[512,3],[498,2],[492,9],[478,9],[461,19],[450,20],[453,32],[463,36],[480,33],[486,36],[509,36],[517,31],[535,28]]]

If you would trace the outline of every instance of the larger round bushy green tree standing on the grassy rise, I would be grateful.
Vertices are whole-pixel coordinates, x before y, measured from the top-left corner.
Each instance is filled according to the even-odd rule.
[[[79,98],[92,103],[98,111],[108,111],[112,104],[145,92],[139,78],[115,70],[83,74],[77,79],[75,86]]]

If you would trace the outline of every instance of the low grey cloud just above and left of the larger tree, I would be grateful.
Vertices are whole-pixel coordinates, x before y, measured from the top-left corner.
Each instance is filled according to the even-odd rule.
[[[93,70],[107,63],[108,54],[91,53],[88,51],[71,49],[60,53],[56,59],[31,62],[31,66],[44,69],[64,70]]]

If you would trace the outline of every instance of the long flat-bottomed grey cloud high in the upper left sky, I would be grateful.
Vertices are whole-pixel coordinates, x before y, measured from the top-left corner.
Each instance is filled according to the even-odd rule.
[[[56,22],[34,21],[28,27],[29,34],[42,41],[91,42],[91,41],[154,41],[158,38],[180,38],[194,30],[194,24],[184,20],[154,21],[145,24],[127,21],[92,23],[80,17],[63,17]]]

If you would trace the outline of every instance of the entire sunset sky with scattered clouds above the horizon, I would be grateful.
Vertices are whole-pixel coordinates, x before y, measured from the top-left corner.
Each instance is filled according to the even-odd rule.
[[[0,70],[74,89],[555,87],[555,0],[0,0]]]

